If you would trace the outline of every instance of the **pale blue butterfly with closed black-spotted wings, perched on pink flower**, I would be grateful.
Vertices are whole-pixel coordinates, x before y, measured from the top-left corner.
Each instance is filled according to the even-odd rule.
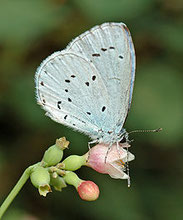
[[[46,58],[35,75],[37,102],[54,121],[94,142],[119,143],[132,101],[135,51],[124,23],[104,23]]]

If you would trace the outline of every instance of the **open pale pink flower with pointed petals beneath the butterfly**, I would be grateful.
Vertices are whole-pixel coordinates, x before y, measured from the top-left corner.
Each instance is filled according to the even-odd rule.
[[[124,172],[125,163],[134,160],[135,157],[130,152],[127,155],[127,150],[124,147],[129,148],[130,145],[128,143],[120,143],[117,148],[116,144],[113,144],[107,154],[109,145],[97,144],[87,153],[88,162],[86,165],[99,173],[109,174],[112,178],[128,179],[129,176]]]

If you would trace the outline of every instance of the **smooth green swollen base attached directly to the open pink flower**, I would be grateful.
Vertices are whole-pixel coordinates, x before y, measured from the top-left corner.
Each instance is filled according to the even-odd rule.
[[[81,166],[86,165],[87,156],[77,156],[77,155],[71,155],[67,157],[62,164],[64,164],[65,170],[75,171],[78,170]]]

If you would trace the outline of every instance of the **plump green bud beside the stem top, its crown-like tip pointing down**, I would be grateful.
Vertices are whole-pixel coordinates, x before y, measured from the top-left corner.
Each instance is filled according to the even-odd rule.
[[[49,186],[50,174],[45,168],[41,166],[35,167],[30,175],[30,179],[32,184],[38,188],[41,196],[46,196],[48,192],[51,192]]]

